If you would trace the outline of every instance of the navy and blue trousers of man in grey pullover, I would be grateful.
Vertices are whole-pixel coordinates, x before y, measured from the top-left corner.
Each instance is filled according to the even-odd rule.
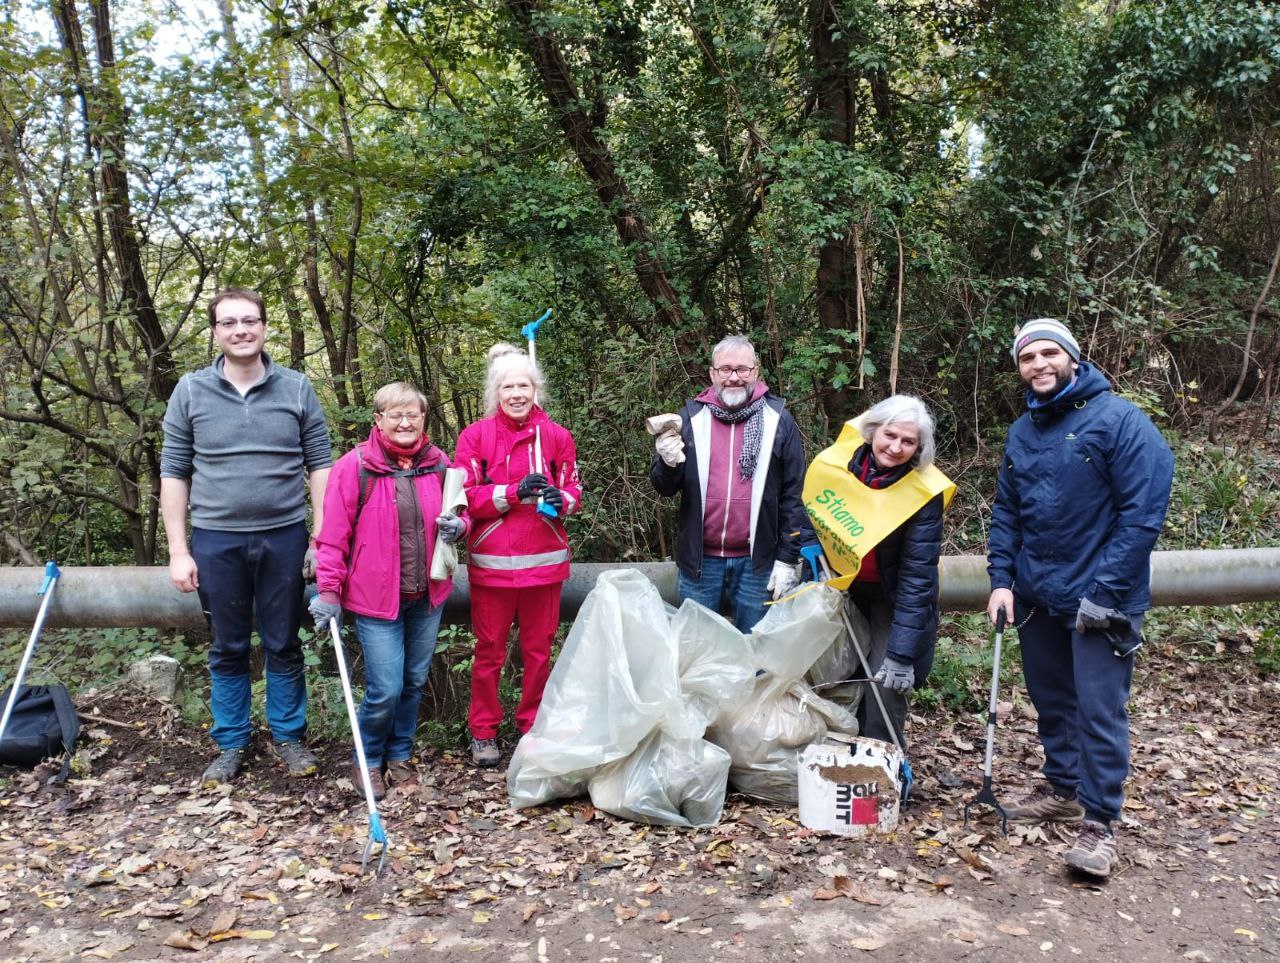
[[[192,529],[191,556],[200,572],[200,604],[209,620],[214,725],[220,749],[248,745],[250,636],[257,625],[266,658],[266,721],[278,743],[296,743],[307,730],[302,675],[302,557],[305,522],[266,531]]]

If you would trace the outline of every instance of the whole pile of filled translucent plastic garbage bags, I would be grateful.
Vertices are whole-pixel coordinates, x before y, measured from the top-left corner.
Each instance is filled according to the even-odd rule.
[[[635,570],[603,574],[516,747],[512,805],[586,793],[626,820],[712,826],[726,782],[794,803],[800,749],[828,730],[856,732],[801,681],[842,634],[841,601],[815,587],[744,636],[695,602],[672,612]]]

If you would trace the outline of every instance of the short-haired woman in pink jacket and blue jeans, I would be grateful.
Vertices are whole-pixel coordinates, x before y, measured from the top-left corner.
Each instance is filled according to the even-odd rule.
[[[365,653],[365,699],[357,718],[374,797],[413,777],[413,732],[452,576],[431,579],[436,533],[461,539],[467,521],[442,514],[449,458],[425,432],[426,398],[396,382],[374,396],[369,439],[333,466],[316,537],[311,601],[316,629],[346,608]],[[383,766],[387,780],[383,781]],[[357,793],[362,784],[353,763]]]

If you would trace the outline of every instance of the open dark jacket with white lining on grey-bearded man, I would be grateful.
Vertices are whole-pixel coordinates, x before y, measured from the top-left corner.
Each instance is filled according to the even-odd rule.
[[[800,429],[791,412],[785,409],[782,398],[769,393],[764,396],[764,401],[772,411],[771,419],[776,419],[776,428],[773,443],[760,452],[756,464],[756,473],[764,473],[764,487],[758,499],[755,537],[751,540],[751,569],[755,571],[772,569],[776,561],[799,561],[800,546],[817,539],[800,498],[806,469]],[[694,443],[694,419],[705,407],[694,398],[680,410],[680,434],[685,442],[684,464],[669,467],[660,457],[654,456],[649,469],[649,482],[658,494],[681,493],[676,565],[691,579],[703,574],[703,488],[698,466],[699,460],[708,455],[699,452]]]

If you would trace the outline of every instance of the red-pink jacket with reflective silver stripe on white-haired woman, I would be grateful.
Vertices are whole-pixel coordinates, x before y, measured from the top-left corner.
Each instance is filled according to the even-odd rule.
[[[520,480],[535,471],[535,438],[541,438],[541,473],[564,494],[558,519],[538,514],[535,501],[516,497]],[[524,425],[500,411],[467,425],[458,435],[454,462],[467,473],[467,578],[474,585],[550,585],[568,578],[564,517],[579,510],[573,435],[540,407]],[[333,484],[332,482],[329,484]]]

